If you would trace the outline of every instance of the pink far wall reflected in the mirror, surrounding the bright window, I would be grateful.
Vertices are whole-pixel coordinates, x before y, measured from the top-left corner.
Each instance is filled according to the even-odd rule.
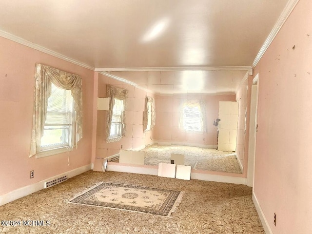
[[[187,98],[206,100],[207,133],[186,133],[179,130],[180,103]],[[235,95],[176,94],[156,96],[155,138],[163,143],[188,143],[217,145],[217,128],[213,125],[218,117],[219,101],[235,101]],[[205,140],[204,140],[205,138]]]

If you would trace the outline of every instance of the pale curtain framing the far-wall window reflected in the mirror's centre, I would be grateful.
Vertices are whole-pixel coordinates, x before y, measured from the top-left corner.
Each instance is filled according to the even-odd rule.
[[[207,132],[207,117],[206,117],[206,100],[198,100],[198,99],[187,99],[183,103],[181,103],[181,115],[180,115],[180,121],[179,121],[179,129],[181,131],[184,130],[183,126],[183,110],[184,108],[194,108],[197,107],[198,110],[200,111],[200,117],[199,117],[199,122],[200,122],[200,131],[206,133]]]

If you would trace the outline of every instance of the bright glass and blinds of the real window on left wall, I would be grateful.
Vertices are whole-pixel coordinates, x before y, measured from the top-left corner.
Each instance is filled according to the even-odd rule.
[[[69,147],[73,137],[73,97],[70,90],[51,83],[47,114],[41,137],[41,150]]]

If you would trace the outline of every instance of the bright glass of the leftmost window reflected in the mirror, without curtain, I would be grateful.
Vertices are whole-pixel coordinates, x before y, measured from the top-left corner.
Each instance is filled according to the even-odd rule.
[[[109,139],[121,137],[123,119],[123,100],[115,98],[113,107],[112,124]]]

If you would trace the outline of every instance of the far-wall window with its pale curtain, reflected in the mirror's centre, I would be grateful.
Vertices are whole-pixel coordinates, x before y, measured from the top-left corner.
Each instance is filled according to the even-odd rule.
[[[206,132],[206,111],[204,100],[188,100],[183,103],[180,117],[180,130]]]

